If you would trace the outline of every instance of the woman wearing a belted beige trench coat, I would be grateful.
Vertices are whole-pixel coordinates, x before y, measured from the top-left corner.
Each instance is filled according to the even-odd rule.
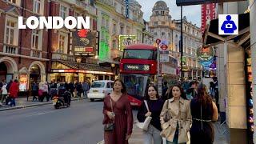
[[[170,99],[167,99],[160,114],[162,137],[167,144],[188,142],[187,132],[190,130],[190,102],[182,87],[174,85],[170,89]]]

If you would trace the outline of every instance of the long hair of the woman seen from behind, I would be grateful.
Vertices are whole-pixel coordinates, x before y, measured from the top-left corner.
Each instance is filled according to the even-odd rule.
[[[198,86],[198,94],[197,94],[196,100],[202,103],[203,107],[206,107],[207,104],[210,104],[210,102],[212,102],[212,98],[210,98],[209,94],[207,93],[206,85],[201,83]]]

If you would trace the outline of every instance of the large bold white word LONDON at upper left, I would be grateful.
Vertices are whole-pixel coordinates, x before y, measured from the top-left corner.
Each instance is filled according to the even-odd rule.
[[[35,17],[31,16],[23,23],[23,17],[18,17],[18,29],[62,29],[65,26],[66,29],[90,29],[90,17],[86,17],[86,21],[83,17]]]

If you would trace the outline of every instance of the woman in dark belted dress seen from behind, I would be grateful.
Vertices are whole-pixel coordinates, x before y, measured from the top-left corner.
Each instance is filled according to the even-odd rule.
[[[190,143],[214,143],[214,126],[212,121],[218,120],[218,109],[212,98],[207,94],[207,87],[198,86],[198,96],[191,100],[192,126]]]

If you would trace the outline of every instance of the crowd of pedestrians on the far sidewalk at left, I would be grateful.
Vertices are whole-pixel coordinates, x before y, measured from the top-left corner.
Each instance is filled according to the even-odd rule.
[[[33,102],[49,102],[55,95],[64,93],[65,90],[69,90],[72,97],[85,97],[87,98],[87,91],[90,90],[90,82],[32,82],[30,85],[30,94],[27,95],[32,97]],[[15,98],[18,98],[18,80],[14,82],[6,82],[2,80],[0,82],[0,106],[16,106]]]

